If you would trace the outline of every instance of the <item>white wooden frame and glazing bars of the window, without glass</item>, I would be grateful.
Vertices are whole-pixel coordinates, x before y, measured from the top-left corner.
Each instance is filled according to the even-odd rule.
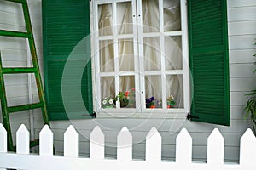
[[[115,26],[117,23],[116,20],[116,4],[121,2],[131,2],[132,7],[136,6],[135,8],[132,8],[132,14],[135,16],[132,18],[133,23],[137,23],[136,25],[133,25],[133,32],[137,32],[137,34],[122,34],[118,35],[117,27]],[[119,94],[119,76],[130,76],[131,71],[118,71],[117,67],[115,66],[113,72],[100,72],[100,60],[99,60],[99,53],[92,53],[92,57],[94,60],[94,74],[95,74],[95,81],[94,81],[94,88],[95,88],[95,111],[99,113],[100,115],[104,113],[117,113],[117,115],[120,116],[122,113],[129,113],[129,115],[133,115],[134,113],[185,113],[187,114],[190,111],[190,88],[189,88],[189,46],[188,46],[188,19],[187,19],[187,3],[186,0],[180,0],[180,8],[181,8],[181,31],[168,31],[165,32],[163,28],[163,0],[160,0],[159,8],[160,8],[160,33],[143,33],[142,23],[143,23],[143,17],[142,17],[142,3],[140,0],[94,0],[92,1],[92,16],[98,17],[98,5],[99,4],[106,4],[106,3],[112,3],[112,10],[113,10],[113,36],[101,36],[99,37],[98,34],[98,20],[93,20],[93,26],[92,30],[95,32],[92,32],[92,46],[95,49],[99,49],[99,41],[101,40],[113,40],[113,46],[114,46],[114,63],[115,65],[119,64],[119,58],[118,58],[118,39],[119,38],[133,38],[134,42],[134,55],[135,56],[143,56],[143,37],[160,37],[160,50],[162,51],[162,48],[164,46],[164,38],[165,36],[181,36],[182,37],[182,53],[183,53],[183,70],[174,70],[174,71],[168,71],[167,73],[162,68],[161,71],[161,77],[162,82],[164,82],[165,75],[183,75],[183,108],[172,108],[167,109],[166,105],[163,105],[163,108],[155,108],[155,109],[146,109],[145,105],[145,87],[144,87],[144,75],[152,75],[156,74],[154,71],[144,71],[143,69],[143,59],[142,58],[135,58],[134,59],[134,76],[136,82],[139,81],[139,83],[135,83],[135,88],[137,89],[136,93],[136,108],[135,109],[127,109],[127,108],[120,108],[119,109],[119,103],[117,103],[117,108],[113,109],[102,109],[101,108],[101,85],[100,85],[100,77],[109,77],[114,76],[115,77],[115,93]],[[138,36],[137,35],[143,35]],[[163,55],[163,54],[162,54]],[[140,66],[138,65],[140,63]],[[164,57],[161,57],[161,65],[164,64]],[[138,74],[138,72],[140,74]],[[163,79],[164,78],[164,79]],[[141,90],[138,90],[141,89]],[[162,103],[166,103],[166,83],[162,83]]]

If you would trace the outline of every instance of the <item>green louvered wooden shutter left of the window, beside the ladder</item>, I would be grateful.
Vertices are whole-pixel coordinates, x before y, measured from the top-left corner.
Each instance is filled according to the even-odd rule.
[[[87,37],[89,0],[43,0],[42,13],[44,88],[49,119],[90,118],[93,104],[90,37]]]

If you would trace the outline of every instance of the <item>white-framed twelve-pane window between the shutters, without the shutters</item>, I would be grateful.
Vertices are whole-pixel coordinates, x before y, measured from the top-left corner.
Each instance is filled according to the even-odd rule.
[[[97,111],[189,111],[186,8],[183,0],[93,1]]]

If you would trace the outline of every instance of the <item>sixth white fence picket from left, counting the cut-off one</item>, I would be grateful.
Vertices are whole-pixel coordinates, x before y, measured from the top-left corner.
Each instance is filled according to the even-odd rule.
[[[123,127],[117,137],[117,159],[132,160],[132,136],[127,127]]]

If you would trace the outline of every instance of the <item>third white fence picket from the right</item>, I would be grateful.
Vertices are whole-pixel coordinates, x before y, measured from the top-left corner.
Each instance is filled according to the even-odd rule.
[[[183,128],[176,139],[176,162],[191,163],[192,161],[192,138],[187,129]]]

